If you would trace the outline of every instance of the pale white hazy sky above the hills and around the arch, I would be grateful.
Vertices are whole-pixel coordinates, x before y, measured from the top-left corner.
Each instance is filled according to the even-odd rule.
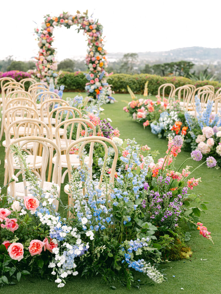
[[[29,60],[37,55],[33,32],[34,27],[40,28],[43,15],[76,14],[86,9],[103,25],[108,52],[221,47],[220,0],[4,0],[0,7],[0,59],[13,55],[17,60]],[[75,29],[54,30],[53,46],[59,61],[86,54],[86,38]]]

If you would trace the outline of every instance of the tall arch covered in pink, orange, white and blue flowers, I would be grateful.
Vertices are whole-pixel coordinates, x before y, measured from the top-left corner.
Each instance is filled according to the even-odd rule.
[[[95,19],[88,17],[88,11],[76,15],[69,12],[63,12],[59,16],[51,17],[47,14],[44,17],[41,29],[35,28],[39,46],[39,56],[36,57],[37,77],[42,81],[49,81],[53,78],[55,84],[59,73],[57,70],[57,62],[55,61],[55,48],[52,47],[54,41],[53,30],[56,26],[65,26],[69,29],[72,25],[77,25],[78,32],[83,30],[83,34],[88,38],[88,54],[86,55],[86,64],[89,73],[85,74],[88,82],[85,90],[90,96],[99,98],[101,93],[105,93],[108,98],[112,91],[110,85],[106,81],[109,74],[105,71],[108,66],[106,60],[106,51],[104,50],[104,41],[102,38],[103,26]]]

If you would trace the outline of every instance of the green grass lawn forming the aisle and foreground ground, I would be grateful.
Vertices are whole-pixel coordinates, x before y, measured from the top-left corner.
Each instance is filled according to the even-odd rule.
[[[64,97],[72,97],[76,93],[64,93]],[[102,117],[110,118],[113,122],[113,127],[118,127],[121,133],[121,138],[136,138],[136,141],[140,144],[147,144],[152,150],[159,150],[161,153],[159,157],[163,157],[167,149],[167,141],[164,139],[158,139],[156,135],[153,135],[150,129],[145,129],[143,126],[131,120],[127,113],[123,112],[122,108],[126,105],[126,102],[130,101],[131,97],[128,94],[116,94],[114,95],[116,100],[115,104],[107,104],[103,108]],[[142,97],[141,95],[138,97]],[[1,159],[1,178],[0,186],[3,184],[4,175],[4,148],[0,148]],[[178,155],[177,165],[182,163],[189,157],[189,153],[182,152]],[[188,164],[188,163],[187,163]],[[195,167],[195,163],[191,164]],[[143,286],[141,290],[132,288],[127,290],[121,285],[114,284],[117,289],[111,290],[109,285],[103,284],[100,277],[83,279],[80,277],[73,277],[72,281],[68,281],[64,288],[57,288],[56,284],[49,282],[46,279],[40,280],[37,277],[27,278],[27,280],[21,280],[20,283],[14,286],[6,286],[2,288],[1,293],[7,294],[46,294],[46,293],[64,293],[64,294],[108,294],[108,293],[151,293],[151,294],[218,294],[221,293],[221,280],[220,280],[220,243],[221,234],[219,225],[221,222],[221,201],[220,201],[220,188],[221,188],[221,170],[208,169],[206,166],[201,167],[195,171],[193,175],[195,178],[202,177],[202,183],[195,188],[195,192],[204,195],[204,200],[208,201],[208,211],[206,214],[202,214],[201,221],[211,231],[211,235],[215,245],[199,236],[199,231],[192,232],[192,238],[188,242],[188,245],[192,248],[193,256],[190,260],[180,260],[162,265],[162,268],[166,268],[168,282],[161,285],[149,285]],[[65,194],[66,195],[66,194]],[[67,196],[61,195],[63,200],[66,200]],[[200,259],[207,259],[201,261]],[[142,274],[138,275],[141,280],[146,279]],[[175,277],[173,277],[175,276]],[[184,288],[184,290],[181,290]]]

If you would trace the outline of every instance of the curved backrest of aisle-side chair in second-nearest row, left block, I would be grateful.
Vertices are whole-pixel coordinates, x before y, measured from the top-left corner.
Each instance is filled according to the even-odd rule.
[[[77,124],[77,131],[74,129],[74,125]],[[64,129],[64,139],[65,139],[65,147],[64,143],[61,144],[61,137],[60,137],[60,128],[63,127]],[[67,119],[65,121],[60,122],[56,129],[55,129],[55,138],[57,146],[60,147],[61,151],[66,151],[67,147],[72,143],[73,140],[78,140],[80,137],[80,129],[84,128],[85,133],[82,134],[84,137],[88,137],[88,127],[92,130],[92,136],[96,136],[96,128],[94,124],[89,121],[88,119],[84,118],[71,118]],[[49,126],[50,129],[50,126]],[[74,133],[76,131],[76,134]],[[50,135],[52,134],[52,131],[50,130]],[[74,138],[73,138],[74,137]]]

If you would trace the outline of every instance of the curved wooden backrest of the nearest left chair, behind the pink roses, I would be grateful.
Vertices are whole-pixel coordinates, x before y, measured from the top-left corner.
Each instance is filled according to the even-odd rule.
[[[7,148],[6,151],[6,160],[7,164],[9,167],[9,178],[12,178],[14,174],[14,164],[13,164],[13,155],[10,150],[10,146],[12,144],[19,144],[20,147],[22,148],[23,146],[27,145],[28,143],[34,143],[34,148],[35,150],[38,150],[39,146],[42,146],[42,162],[45,164],[42,164],[41,168],[41,176],[40,176],[40,186],[43,188],[44,181],[46,178],[46,171],[47,171],[47,162],[49,158],[49,148],[55,149],[56,152],[56,161],[53,169],[53,174],[52,174],[52,181],[54,183],[57,183],[59,186],[61,184],[61,164],[60,164],[60,149],[57,147],[56,143],[53,142],[52,140],[44,137],[38,137],[38,136],[27,136],[27,137],[22,137],[15,139],[13,142],[9,144],[9,147]],[[19,160],[20,161],[20,160]],[[34,170],[34,169],[33,169]],[[24,194],[27,196],[27,189],[25,187],[27,186],[26,183],[26,178],[25,178],[25,168],[23,165],[21,165],[21,171],[22,171],[22,178],[24,182]],[[16,195],[16,189],[15,189],[15,182],[10,183],[10,193],[12,196]]]

